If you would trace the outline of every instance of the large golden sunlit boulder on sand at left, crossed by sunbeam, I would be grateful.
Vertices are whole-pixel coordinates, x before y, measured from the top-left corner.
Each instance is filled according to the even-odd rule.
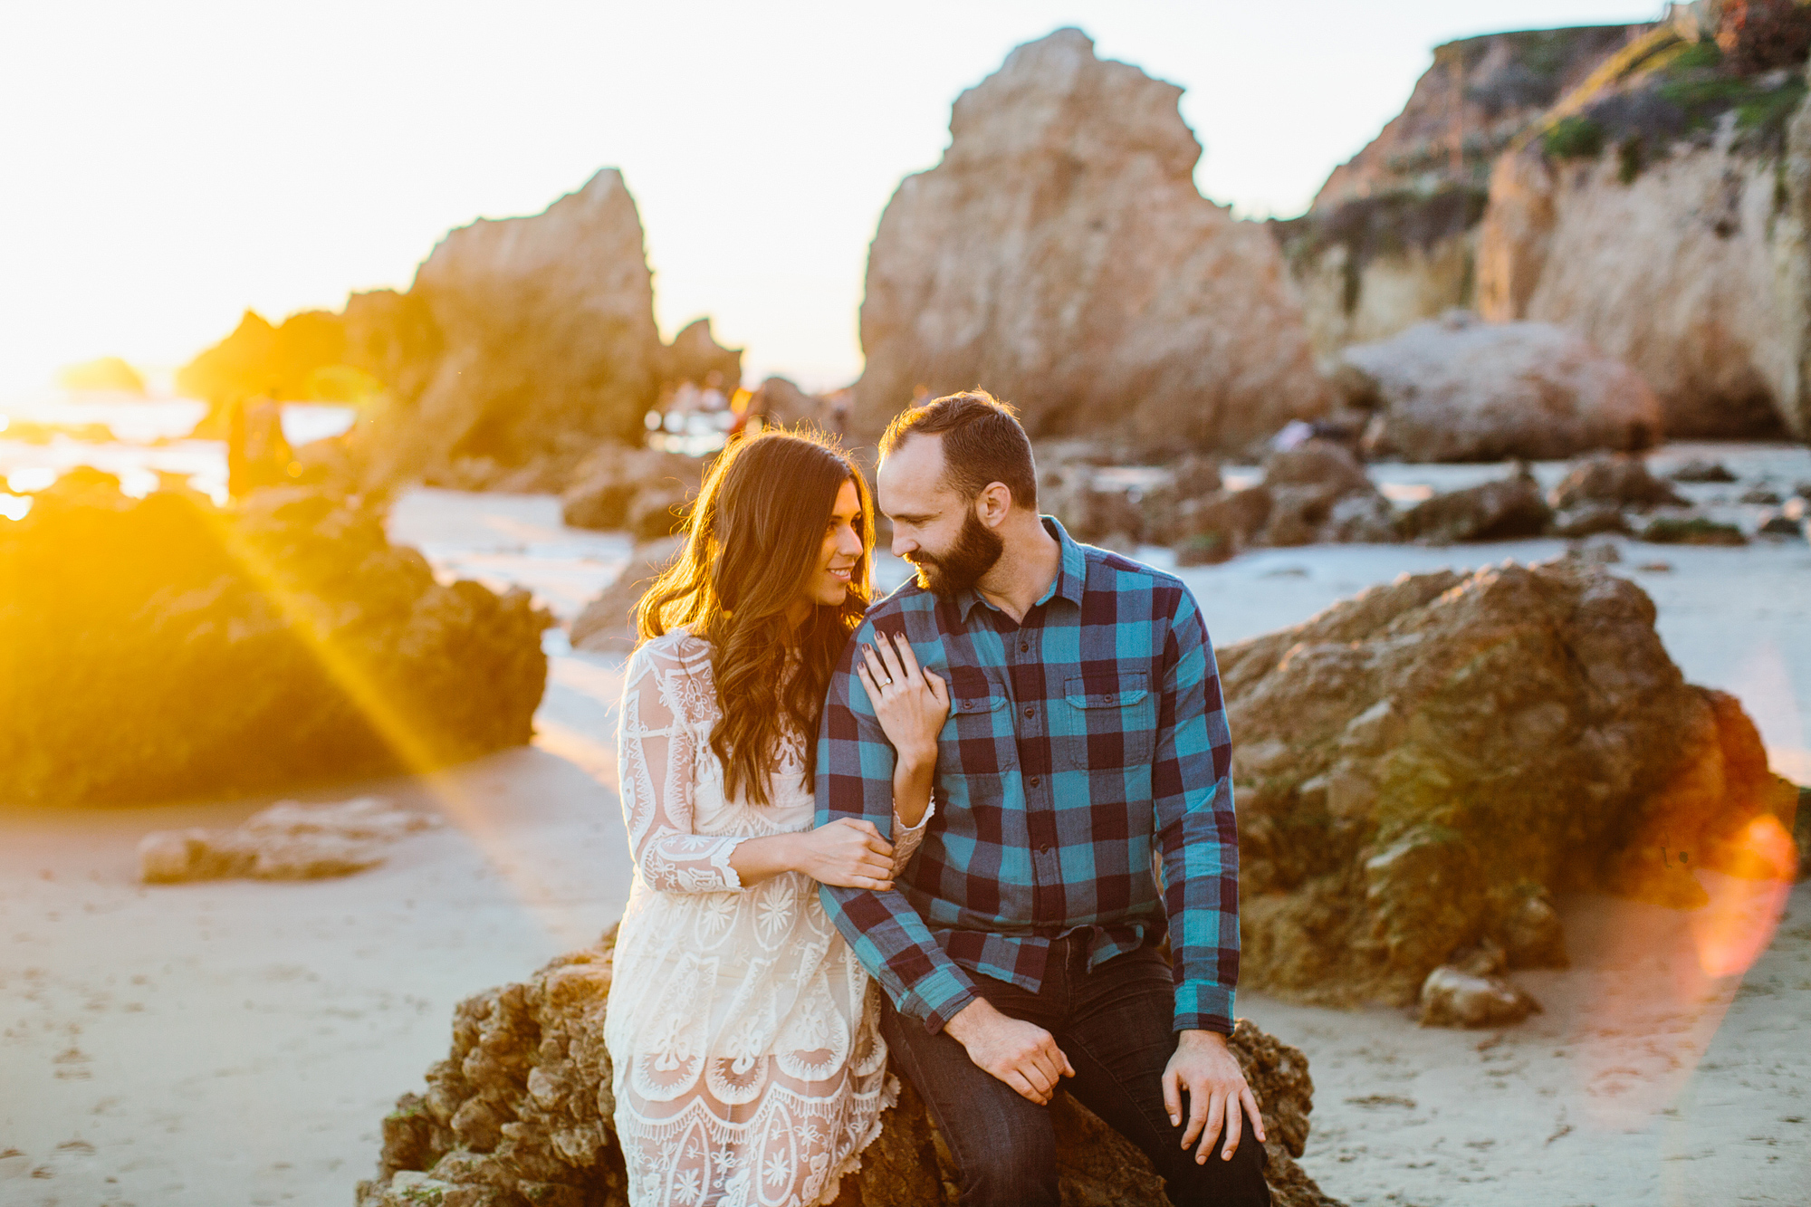
[[[80,556],[71,556],[78,549]],[[0,524],[0,799],[138,803],[420,770],[531,738],[552,623],[301,488],[230,509],[76,469]]]

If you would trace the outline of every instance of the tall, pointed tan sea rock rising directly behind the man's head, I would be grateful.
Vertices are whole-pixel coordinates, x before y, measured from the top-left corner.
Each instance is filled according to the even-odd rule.
[[[867,257],[855,430],[985,386],[1034,439],[1235,449],[1327,410],[1282,256],[1195,188],[1181,91],[1059,29],[1018,47],[907,176]]]

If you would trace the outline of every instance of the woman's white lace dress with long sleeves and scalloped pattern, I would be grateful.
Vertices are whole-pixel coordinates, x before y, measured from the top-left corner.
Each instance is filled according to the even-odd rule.
[[[739,843],[810,830],[800,747],[770,805],[726,799],[710,748],[710,645],[670,632],[636,651],[619,767],[636,881],[605,1017],[616,1135],[634,1207],[828,1203],[880,1133],[878,988],[817,899],[786,872],[743,886]],[[895,870],[924,837],[895,823]]]

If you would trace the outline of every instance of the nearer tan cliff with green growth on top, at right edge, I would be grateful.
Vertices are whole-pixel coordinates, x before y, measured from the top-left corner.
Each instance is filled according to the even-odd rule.
[[[1490,176],[1489,319],[1561,323],[1632,364],[1670,437],[1811,439],[1811,103],[1661,29]]]

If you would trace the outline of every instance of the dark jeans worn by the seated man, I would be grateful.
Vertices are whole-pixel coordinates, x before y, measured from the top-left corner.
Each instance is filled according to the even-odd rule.
[[[1268,1207],[1264,1145],[1246,1120],[1239,1151],[1222,1162],[1215,1138],[1204,1165],[1183,1149],[1183,1127],[1163,1107],[1163,1069],[1175,1053],[1170,966],[1143,948],[1088,971],[1088,937],[1050,948],[1043,991],[974,977],[1003,1015],[1036,1022],[1076,1066],[1063,1089],[1076,1095],[1150,1156],[1175,1207]],[[898,1067],[931,1107],[962,1173],[962,1202],[974,1207],[1056,1207],[1056,1133],[1050,1109],[1021,1098],[945,1033],[931,1035],[884,1002],[880,1029]],[[1183,1098],[1188,1122],[1188,1098]],[[1199,1144],[1199,1140],[1197,1140]]]

